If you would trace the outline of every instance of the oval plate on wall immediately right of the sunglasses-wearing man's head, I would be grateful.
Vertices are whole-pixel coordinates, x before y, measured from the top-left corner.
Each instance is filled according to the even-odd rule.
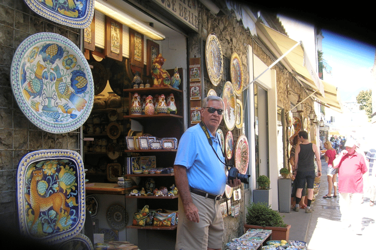
[[[226,82],[223,87],[222,99],[225,103],[223,120],[225,120],[226,127],[231,131],[236,123],[236,97],[233,84],[230,82]]]

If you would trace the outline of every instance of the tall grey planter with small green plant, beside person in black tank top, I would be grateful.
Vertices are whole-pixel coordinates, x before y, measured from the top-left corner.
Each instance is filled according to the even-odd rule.
[[[280,212],[289,213],[291,205],[291,179],[287,179],[290,171],[282,167],[280,174],[283,179],[278,179],[278,208]]]

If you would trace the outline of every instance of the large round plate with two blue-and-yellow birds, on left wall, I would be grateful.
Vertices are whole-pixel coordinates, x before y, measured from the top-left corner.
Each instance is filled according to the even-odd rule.
[[[18,46],[11,85],[24,115],[39,128],[65,133],[88,119],[94,102],[93,76],[80,49],[54,33],[38,33]]]

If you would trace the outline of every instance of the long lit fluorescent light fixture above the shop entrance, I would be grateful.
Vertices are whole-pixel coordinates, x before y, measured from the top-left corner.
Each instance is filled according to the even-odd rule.
[[[164,40],[166,37],[159,31],[153,29],[149,25],[137,20],[136,18],[129,16],[118,8],[110,5],[104,0],[95,0],[95,10],[102,12],[106,16],[140,32],[141,34],[153,39]]]

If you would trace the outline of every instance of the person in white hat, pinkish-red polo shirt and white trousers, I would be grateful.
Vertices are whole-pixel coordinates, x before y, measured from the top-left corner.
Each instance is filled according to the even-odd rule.
[[[346,141],[342,150],[333,161],[333,167],[338,167],[338,191],[341,222],[345,228],[352,227],[353,231],[362,234],[362,217],[359,213],[363,198],[363,174],[367,165],[362,154],[356,152],[356,142]]]

